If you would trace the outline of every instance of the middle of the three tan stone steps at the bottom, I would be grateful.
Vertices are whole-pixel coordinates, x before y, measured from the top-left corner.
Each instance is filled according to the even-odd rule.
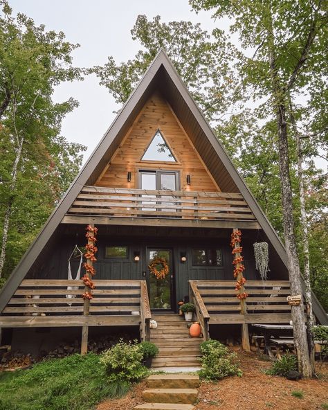
[[[147,403],[194,404],[197,389],[147,389],[143,391],[143,400]]]

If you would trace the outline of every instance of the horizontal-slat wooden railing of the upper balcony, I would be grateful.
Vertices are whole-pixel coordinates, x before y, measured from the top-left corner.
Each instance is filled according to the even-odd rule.
[[[242,194],[84,186],[66,215],[255,221]]]

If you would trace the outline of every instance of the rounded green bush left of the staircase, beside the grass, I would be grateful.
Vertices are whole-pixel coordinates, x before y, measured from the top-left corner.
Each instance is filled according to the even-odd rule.
[[[104,364],[110,382],[139,382],[148,374],[141,364],[143,351],[138,344],[125,343],[120,339],[118,344],[106,350],[100,359]]]

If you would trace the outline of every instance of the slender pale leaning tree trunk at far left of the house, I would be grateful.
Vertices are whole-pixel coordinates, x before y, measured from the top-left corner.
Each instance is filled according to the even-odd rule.
[[[14,165],[12,167],[12,180],[10,184],[10,197],[8,200],[5,216],[3,218],[3,229],[2,229],[2,243],[1,243],[1,253],[0,253],[0,278],[2,277],[3,266],[6,262],[6,249],[7,249],[7,241],[8,241],[8,230],[9,230],[9,221],[10,221],[10,213],[12,209],[12,202],[13,202],[13,192],[16,188],[16,181],[17,181],[17,172],[18,172],[18,165],[21,159],[21,150],[23,148],[24,138],[22,137],[19,141],[19,145],[17,148],[17,154],[15,158]]]

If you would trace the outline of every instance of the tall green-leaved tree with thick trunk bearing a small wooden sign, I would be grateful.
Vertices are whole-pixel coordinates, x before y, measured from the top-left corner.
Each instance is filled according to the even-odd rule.
[[[295,240],[293,199],[289,162],[289,98],[325,82],[322,52],[327,48],[327,11],[321,0],[314,1],[226,1],[191,0],[194,9],[215,9],[215,17],[230,17],[232,32],[239,33],[242,47],[255,54],[244,58],[239,72],[255,98],[265,98],[277,127],[284,239],[291,292],[302,294],[300,266]],[[313,74],[313,71],[315,73]],[[311,92],[311,91],[310,91]],[[314,96],[318,96],[316,92]],[[315,98],[314,98],[315,99]],[[304,306],[292,308],[298,364],[305,376],[311,366],[303,320]]]

